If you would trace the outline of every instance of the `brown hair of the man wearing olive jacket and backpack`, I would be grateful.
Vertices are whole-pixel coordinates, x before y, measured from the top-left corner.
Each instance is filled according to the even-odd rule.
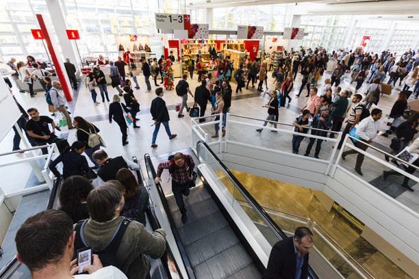
[[[106,181],[92,189],[86,200],[86,208],[92,220],[107,222],[114,218],[114,212],[123,197],[123,185],[119,181]]]

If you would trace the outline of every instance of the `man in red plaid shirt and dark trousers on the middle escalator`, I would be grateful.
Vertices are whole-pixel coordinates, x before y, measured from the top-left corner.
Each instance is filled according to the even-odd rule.
[[[187,159],[186,159],[187,158]],[[187,160],[187,161],[186,161]],[[192,172],[190,172],[192,168]],[[162,172],[168,169],[172,173],[172,192],[175,196],[177,207],[182,213],[182,223],[186,223],[186,208],[183,202],[183,195],[189,196],[189,181],[193,179],[193,170],[195,168],[194,160],[190,155],[183,155],[178,152],[173,159],[164,161],[157,167],[157,177],[155,183],[162,181]]]

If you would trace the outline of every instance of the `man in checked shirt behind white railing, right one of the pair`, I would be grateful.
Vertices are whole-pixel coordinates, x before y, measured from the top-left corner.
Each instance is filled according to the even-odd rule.
[[[327,131],[331,129],[333,125],[332,118],[329,116],[329,107],[325,106],[320,109],[320,114],[314,116],[313,119],[313,128],[316,129],[322,129],[326,131],[318,131],[318,130],[312,130],[312,135],[317,135],[319,137],[326,137]],[[305,150],[305,155],[308,156],[310,154],[310,150],[312,150],[312,147],[314,145],[314,142],[316,142],[316,138],[310,137],[310,142],[307,146],[307,150]],[[314,153],[314,157],[318,159],[318,153],[320,153],[320,148],[322,147],[323,139],[317,139],[316,144],[316,152]]]

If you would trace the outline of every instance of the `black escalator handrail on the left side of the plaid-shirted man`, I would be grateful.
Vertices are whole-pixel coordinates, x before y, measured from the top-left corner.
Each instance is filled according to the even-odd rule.
[[[154,179],[156,178],[157,174],[155,172],[154,165],[153,165],[153,162],[151,161],[150,155],[148,153],[146,153],[144,155],[144,159],[146,161],[146,164],[148,164],[150,166],[150,170],[151,170],[151,173],[153,175],[153,177],[150,177],[150,174],[149,174],[149,179],[153,179],[153,181],[154,181]],[[164,209],[164,211],[166,211],[166,215],[167,215],[168,221],[170,223],[170,228],[172,229],[173,237],[175,237],[177,248],[179,249],[179,252],[181,254],[183,265],[186,267],[186,272],[188,273],[188,277],[190,279],[196,279],[196,276],[195,276],[194,271],[192,269],[192,265],[190,264],[188,255],[186,254],[186,250],[183,247],[183,243],[181,241],[181,237],[179,235],[179,231],[177,230],[177,227],[175,225],[175,220],[173,220],[173,216],[170,213],[170,209],[168,207],[168,202],[166,200],[166,196],[164,196],[162,185],[160,185],[160,183],[155,183],[155,186],[156,186],[156,189],[157,189],[157,193],[160,196],[160,200],[162,200],[163,209]]]

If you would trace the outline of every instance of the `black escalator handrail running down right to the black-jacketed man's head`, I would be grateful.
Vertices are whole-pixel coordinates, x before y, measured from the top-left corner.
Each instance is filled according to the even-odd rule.
[[[203,148],[205,148],[205,150],[211,155],[212,159],[214,159],[214,161],[218,163],[221,170],[223,170],[223,172],[230,179],[231,183],[233,183],[233,185],[238,189],[238,191],[240,191],[240,194],[242,194],[242,196],[247,200],[247,202],[251,204],[251,207],[253,207],[253,209],[262,218],[262,220],[264,220],[266,225],[268,225],[270,230],[272,230],[272,233],[274,233],[280,240],[287,238],[287,235],[283,233],[283,230],[279,228],[277,223],[275,223],[272,220],[272,218],[268,215],[268,213],[264,211],[264,209],[260,206],[260,204],[255,200],[255,198],[253,198],[253,196],[249,194],[249,191],[247,191],[246,188],[244,188],[244,186],[242,185],[242,183],[238,181],[236,176],[234,176],[234,174],[230,172],[229,168],[227,168],[227,166],[220,159],[218,159],[217,155],[215,155],[215,153],[212,151],[210,146],[208,146],[208,144],[202,140],[196,144],[196,151],[198,152],[198,157],[199,157],[199,148],[198,148],[199,145],[202,145]],[[310,278],[313,278],[313,279],[318,278],[316,274],[314,273],[312,267],[310,266],[309,266],[309,276]]]

